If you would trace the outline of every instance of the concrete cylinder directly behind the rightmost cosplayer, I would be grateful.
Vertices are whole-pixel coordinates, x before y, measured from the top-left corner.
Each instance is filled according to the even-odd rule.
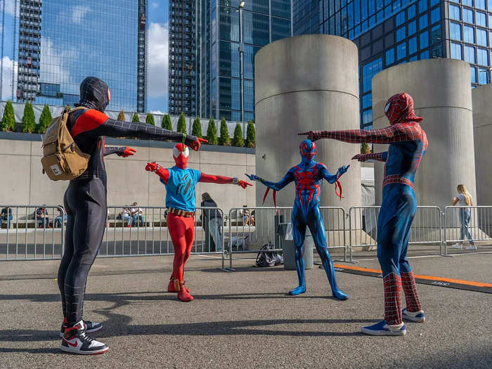
[[[373,125],[387,127],[387,99],[405,91],[427,133],[429,147],[415,177],[419,205],[451,205],[456,186],[476,198],[470,65],[461,60],[429,59],[396,65],[373,77]],[[387,145],[375,145],[375,152]],[[375,164],[376,203],[381,204],[382,164]]]

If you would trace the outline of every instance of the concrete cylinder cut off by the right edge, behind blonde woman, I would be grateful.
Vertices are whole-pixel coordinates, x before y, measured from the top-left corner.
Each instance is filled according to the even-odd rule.
[[[472,89],[478,205],[492,205],[492,84]]]

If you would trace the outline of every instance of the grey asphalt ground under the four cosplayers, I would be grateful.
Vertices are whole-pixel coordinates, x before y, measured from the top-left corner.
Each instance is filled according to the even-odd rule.
[[[492,254],[412,259],[416,273],[492,283]],[[492,294],[418,285],[426,323],[405,337],[368,337],[382,318],[382,280],[337,273],[350,299],[332,299],[325,273],[306,271],[308,292],[283,267],[235,261],[224,273],[212,257],[192,257],[195,301],[163,293],[170,257],[98,259],[84,316],[108,353],[62,354],[58,261],[0,262],[0,368],[492,368]],[[358,266],[375,267],[363,260]],[[70,364],[67,364],[70,363]]]

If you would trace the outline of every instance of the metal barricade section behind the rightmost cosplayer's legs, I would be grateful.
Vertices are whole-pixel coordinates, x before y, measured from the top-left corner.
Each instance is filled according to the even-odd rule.
[[[354,261],[354,247],[361,252],[371,252],[373,257],[377,249],[377,219],[380,206],[351,207],[349,209],[349,261]],[[436,206],[418,206],[410,228],[409,245],[421,246],[422,252],[428,253],[426,245],[438,245],[442,254],[443,220],[441,209]]]

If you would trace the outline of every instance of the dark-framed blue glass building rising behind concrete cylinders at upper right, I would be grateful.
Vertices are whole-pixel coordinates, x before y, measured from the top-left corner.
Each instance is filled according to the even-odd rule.
[[[294,34],[336,34],[358,46],[362,127],[372,127],[371,79],[384,68],[456,58],[470,63],[472,87],[490,80],[492,0],[294,0],[293,8]]]

